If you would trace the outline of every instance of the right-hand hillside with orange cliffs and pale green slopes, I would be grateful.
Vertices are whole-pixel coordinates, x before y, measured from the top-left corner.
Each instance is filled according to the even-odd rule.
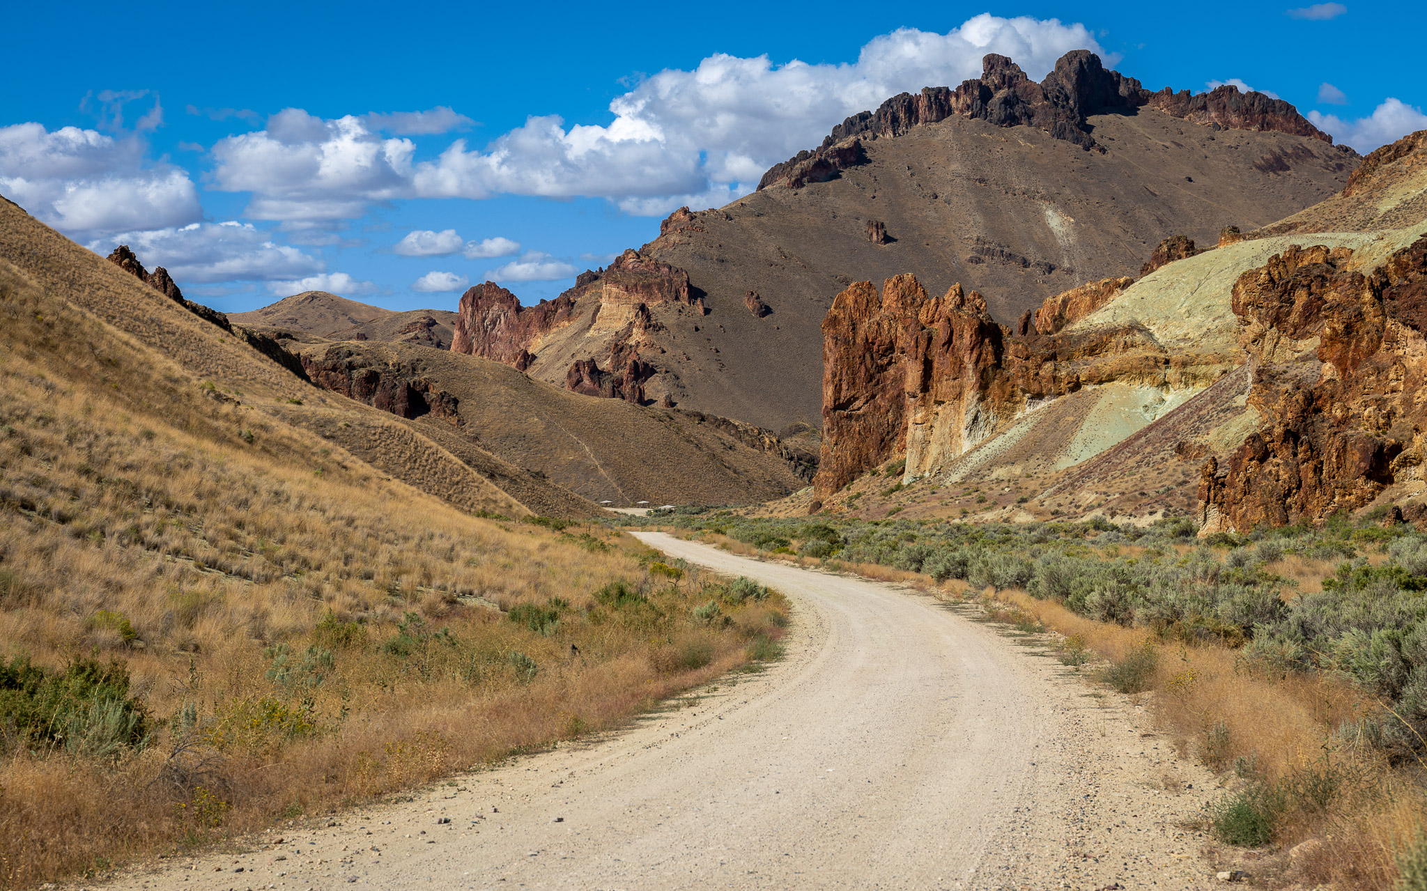
[[[1300,215],[1333,218],[1351,201],[1370,221],[1411,225],[1226,231],[1207,251],[1167,240],[1137,281],[1070,289],[1015,328],[959,285],[929,297],[908,275],[853,284],[823,322],[823,453],[805,506],[1197,509],[1209,529],[1244,529],[1424,488],[1411,396],[1427,297],[1421,157],[1420,134],[1386,147],[1346,194]],[[885,490],[888,475],[869,470],[889,466]]]

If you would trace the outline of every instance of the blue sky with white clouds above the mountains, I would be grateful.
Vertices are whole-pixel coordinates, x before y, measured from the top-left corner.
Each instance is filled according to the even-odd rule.
[[[1271,91],[1361,151],[1427,127],[1416,3],[873,6],[24,4],[0,194],[220,309],[454,308],[487,277],[555,297],[986,51]]]

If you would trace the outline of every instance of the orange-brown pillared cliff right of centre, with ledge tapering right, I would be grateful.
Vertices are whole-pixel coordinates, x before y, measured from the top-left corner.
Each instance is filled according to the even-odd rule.
[[[996,324],[980,295],[960,285],[932,299],[910,275],[889,278],[880,294],[853,284],[822,325],[818,500],[899,453],[909,478],[933,472],[1035,402],[1086,385],[1207,385],[1222,356],[1172,356],[1136,324],[1065,331],[1130,284],[1104,279],[1049,298],[1022,318],[1023,335]]]

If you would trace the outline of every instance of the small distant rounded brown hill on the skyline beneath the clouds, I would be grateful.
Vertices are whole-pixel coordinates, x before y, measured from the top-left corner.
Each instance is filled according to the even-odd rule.
[[[304,291],[251,312],[230,312],[238,325],[258,331],[295,331],[328,341],[405,342],[435,349],[451,346],[455,314],[447,309],[395,312],[327,291]]]

